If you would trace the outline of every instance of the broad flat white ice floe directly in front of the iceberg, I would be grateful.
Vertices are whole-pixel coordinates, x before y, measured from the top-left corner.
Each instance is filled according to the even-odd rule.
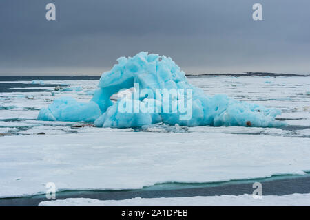
[[[48,182],[58,190],[119,190],[310,170],[309,138],[91,129],[0,137],[0,197],[44,193]]]

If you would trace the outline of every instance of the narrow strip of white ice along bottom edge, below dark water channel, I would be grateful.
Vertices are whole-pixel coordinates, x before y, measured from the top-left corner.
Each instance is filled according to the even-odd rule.
[[[137,197],[124,200],[68,198],[41,201],[39,206],[310,206],[310,194],[264,195],[262,199],[254,199],[253,195],[248,194],[209,197]]]

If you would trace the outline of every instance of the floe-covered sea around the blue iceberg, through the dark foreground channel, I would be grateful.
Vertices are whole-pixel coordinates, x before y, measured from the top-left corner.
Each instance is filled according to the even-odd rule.
[[[99,76],[0,76],[0,206],[36,206],[47,200],[48,182],[58,199],[243,195],[256,181],[263,195],[310,192],[310,77],[188,80],[205,94],[281,109],[277,119],[287,126],[103,129],[38,121],[55,98],[90,100]]]

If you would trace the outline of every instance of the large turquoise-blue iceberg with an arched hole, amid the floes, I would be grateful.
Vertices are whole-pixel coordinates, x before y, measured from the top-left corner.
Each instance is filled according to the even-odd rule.
[[[207,96],[189,84],[172,58],[140,52],[118,58],[104,72],[88,103],[73,98],[54,100],[38,120],[86,121],[99,127],[129,128],[164,123],[180,126],[282,126],[279,109],[240,102],[225,94]],[[110,99],[123,93],[116,102]]]

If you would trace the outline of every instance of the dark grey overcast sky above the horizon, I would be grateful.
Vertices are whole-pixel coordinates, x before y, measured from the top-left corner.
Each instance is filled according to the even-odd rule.
[[[101,74],[140,51],[188,74],[310,74],[309,11],[309,0],[1,0],[0,74]]]

